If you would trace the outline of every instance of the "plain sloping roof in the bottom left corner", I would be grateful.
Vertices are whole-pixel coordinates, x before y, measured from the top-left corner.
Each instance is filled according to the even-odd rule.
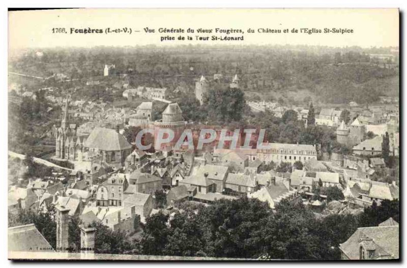
[[[9,227],[9,251],[41,251],[54,252],[51,245],[33,224]],[[38,250],[37,250],[38,248]],[[39,250],[41,248],[41,250]]]

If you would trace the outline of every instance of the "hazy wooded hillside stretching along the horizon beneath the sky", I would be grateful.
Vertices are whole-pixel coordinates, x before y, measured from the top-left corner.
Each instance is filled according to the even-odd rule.
[[[398,96],[398,54],[380,62],[370,53],[390,54],[390,48],[330,48],[307,46],[183,46],[94,47],[44,49],[14,56],[10,70],[41,77],[64,73],[70,86],[103,77],[105,64],[115,65],[117,77],[131,86],[185,87],[192,93],[201,75],[220,73],[226,81],[239,75],[248,100],[290,104],[311,97],[314,102],[366,104],[382,94]]]

